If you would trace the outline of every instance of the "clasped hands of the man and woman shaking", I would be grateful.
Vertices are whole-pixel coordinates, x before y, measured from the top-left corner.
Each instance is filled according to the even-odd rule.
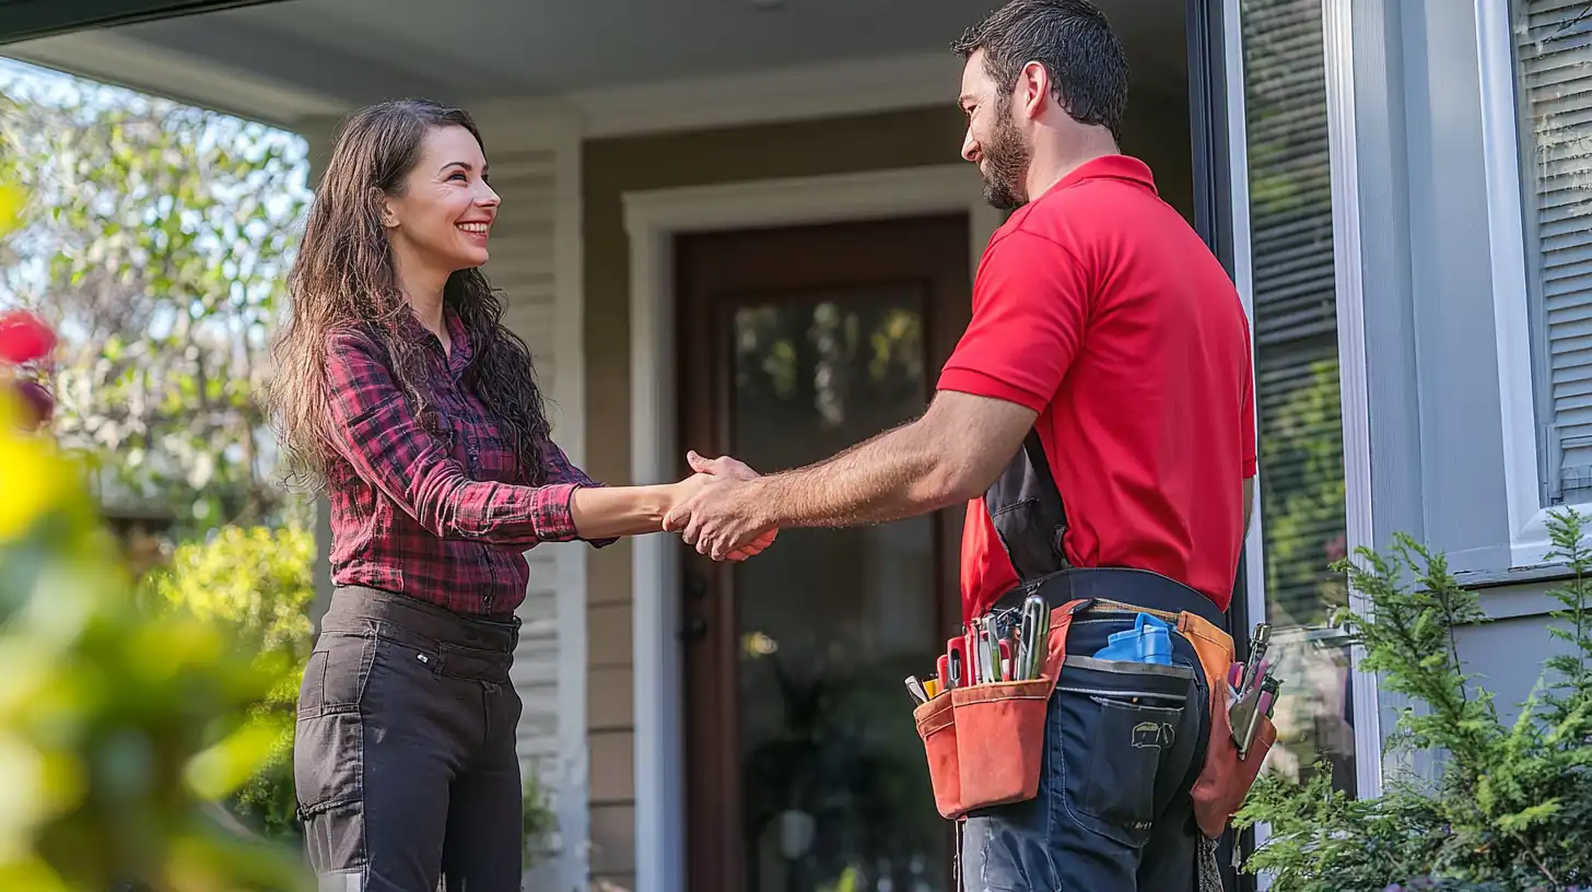
[[[761,499],[758,471],[720,456],[686,452],[694,475],[669,487],[664,530],[715,561],[745,561],[774,545],[778,530]]]

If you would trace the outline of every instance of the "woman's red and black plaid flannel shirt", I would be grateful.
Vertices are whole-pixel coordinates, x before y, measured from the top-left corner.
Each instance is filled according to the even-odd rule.
[[[342,459],[328,468],[331,580],[503,618],[525,599],[525,550],[578,538],[570,500],[576,487],[599,484],[549,441],[546,483],[522,486],[514,444],[468,382],[466,331],[452,312],[446,320],[451,355],[412,315],[403,327],[427,342],[435,363],[431,406],[443,435],[422,427],[368,330],[345,327],[328,338],[328,403]]]

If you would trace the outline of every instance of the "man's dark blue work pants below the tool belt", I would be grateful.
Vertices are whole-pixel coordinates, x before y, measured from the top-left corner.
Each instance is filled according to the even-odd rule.
[[[1078,616],[1068,663],[1132,624],[1132,613]],[[1062,669],[1046,712],[1040,795],[968,816],[966,892],[1194,892],[1189,790],[1205,763],[1210,699],[1194,647],[1175,632],[1172,642],[1172,667]]]

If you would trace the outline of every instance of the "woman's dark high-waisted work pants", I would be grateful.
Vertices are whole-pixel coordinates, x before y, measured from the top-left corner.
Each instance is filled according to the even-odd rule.
[[[339,588],[299,688],[293,782],[323,890],[517,892],[519,623]]]

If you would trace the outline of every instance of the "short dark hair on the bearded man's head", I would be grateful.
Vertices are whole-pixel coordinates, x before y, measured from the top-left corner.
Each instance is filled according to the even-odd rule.
[[[984,70],[1003,91],[1011,91],[1024,65],[1040,62],[1055,100],[1075,121],[1105,126],[1121,139],[1127,54],[1089,0],[1011,0],[950,48],[963,61],[982,49]]]

